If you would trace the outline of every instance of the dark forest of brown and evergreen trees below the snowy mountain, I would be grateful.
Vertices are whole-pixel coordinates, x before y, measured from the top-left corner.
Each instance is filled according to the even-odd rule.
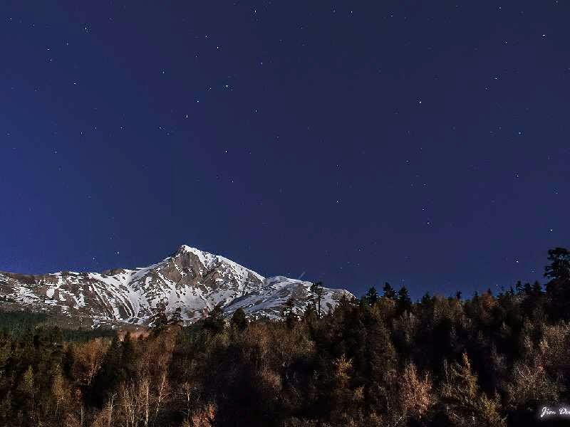
[[[539,411],[570,401],[569,251],[544,275],[417,302],[385,283],[283,321],[157,310],[137,337],[3,312],[0,425],[567,425]]]

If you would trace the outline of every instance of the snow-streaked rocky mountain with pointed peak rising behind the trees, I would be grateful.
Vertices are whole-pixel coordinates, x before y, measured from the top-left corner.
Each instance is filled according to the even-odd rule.
[[[310,287],[310,282],[282,276],[264,278],[222,256],[180,246],[160,263],[135,270],[0,273],[0,307],[11,304],[81,317],[93,325],[144,325],[152,310],[161,304],[167,312],[180,307],[185,321],[198,320],[220,302],[227,314],[243,307],[249,317],[279,318],[289,297],[294,298],[294,310],[304,310],[309,304]],[[325,289],[321,310],[338,304],[343,295],[353,296],[346,290]]]

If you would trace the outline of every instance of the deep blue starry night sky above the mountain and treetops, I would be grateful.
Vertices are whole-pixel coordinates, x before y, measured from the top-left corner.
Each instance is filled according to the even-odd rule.
[[[0,6],[0,270],[181,244],[361,295],[570,243],[566,1]]]

